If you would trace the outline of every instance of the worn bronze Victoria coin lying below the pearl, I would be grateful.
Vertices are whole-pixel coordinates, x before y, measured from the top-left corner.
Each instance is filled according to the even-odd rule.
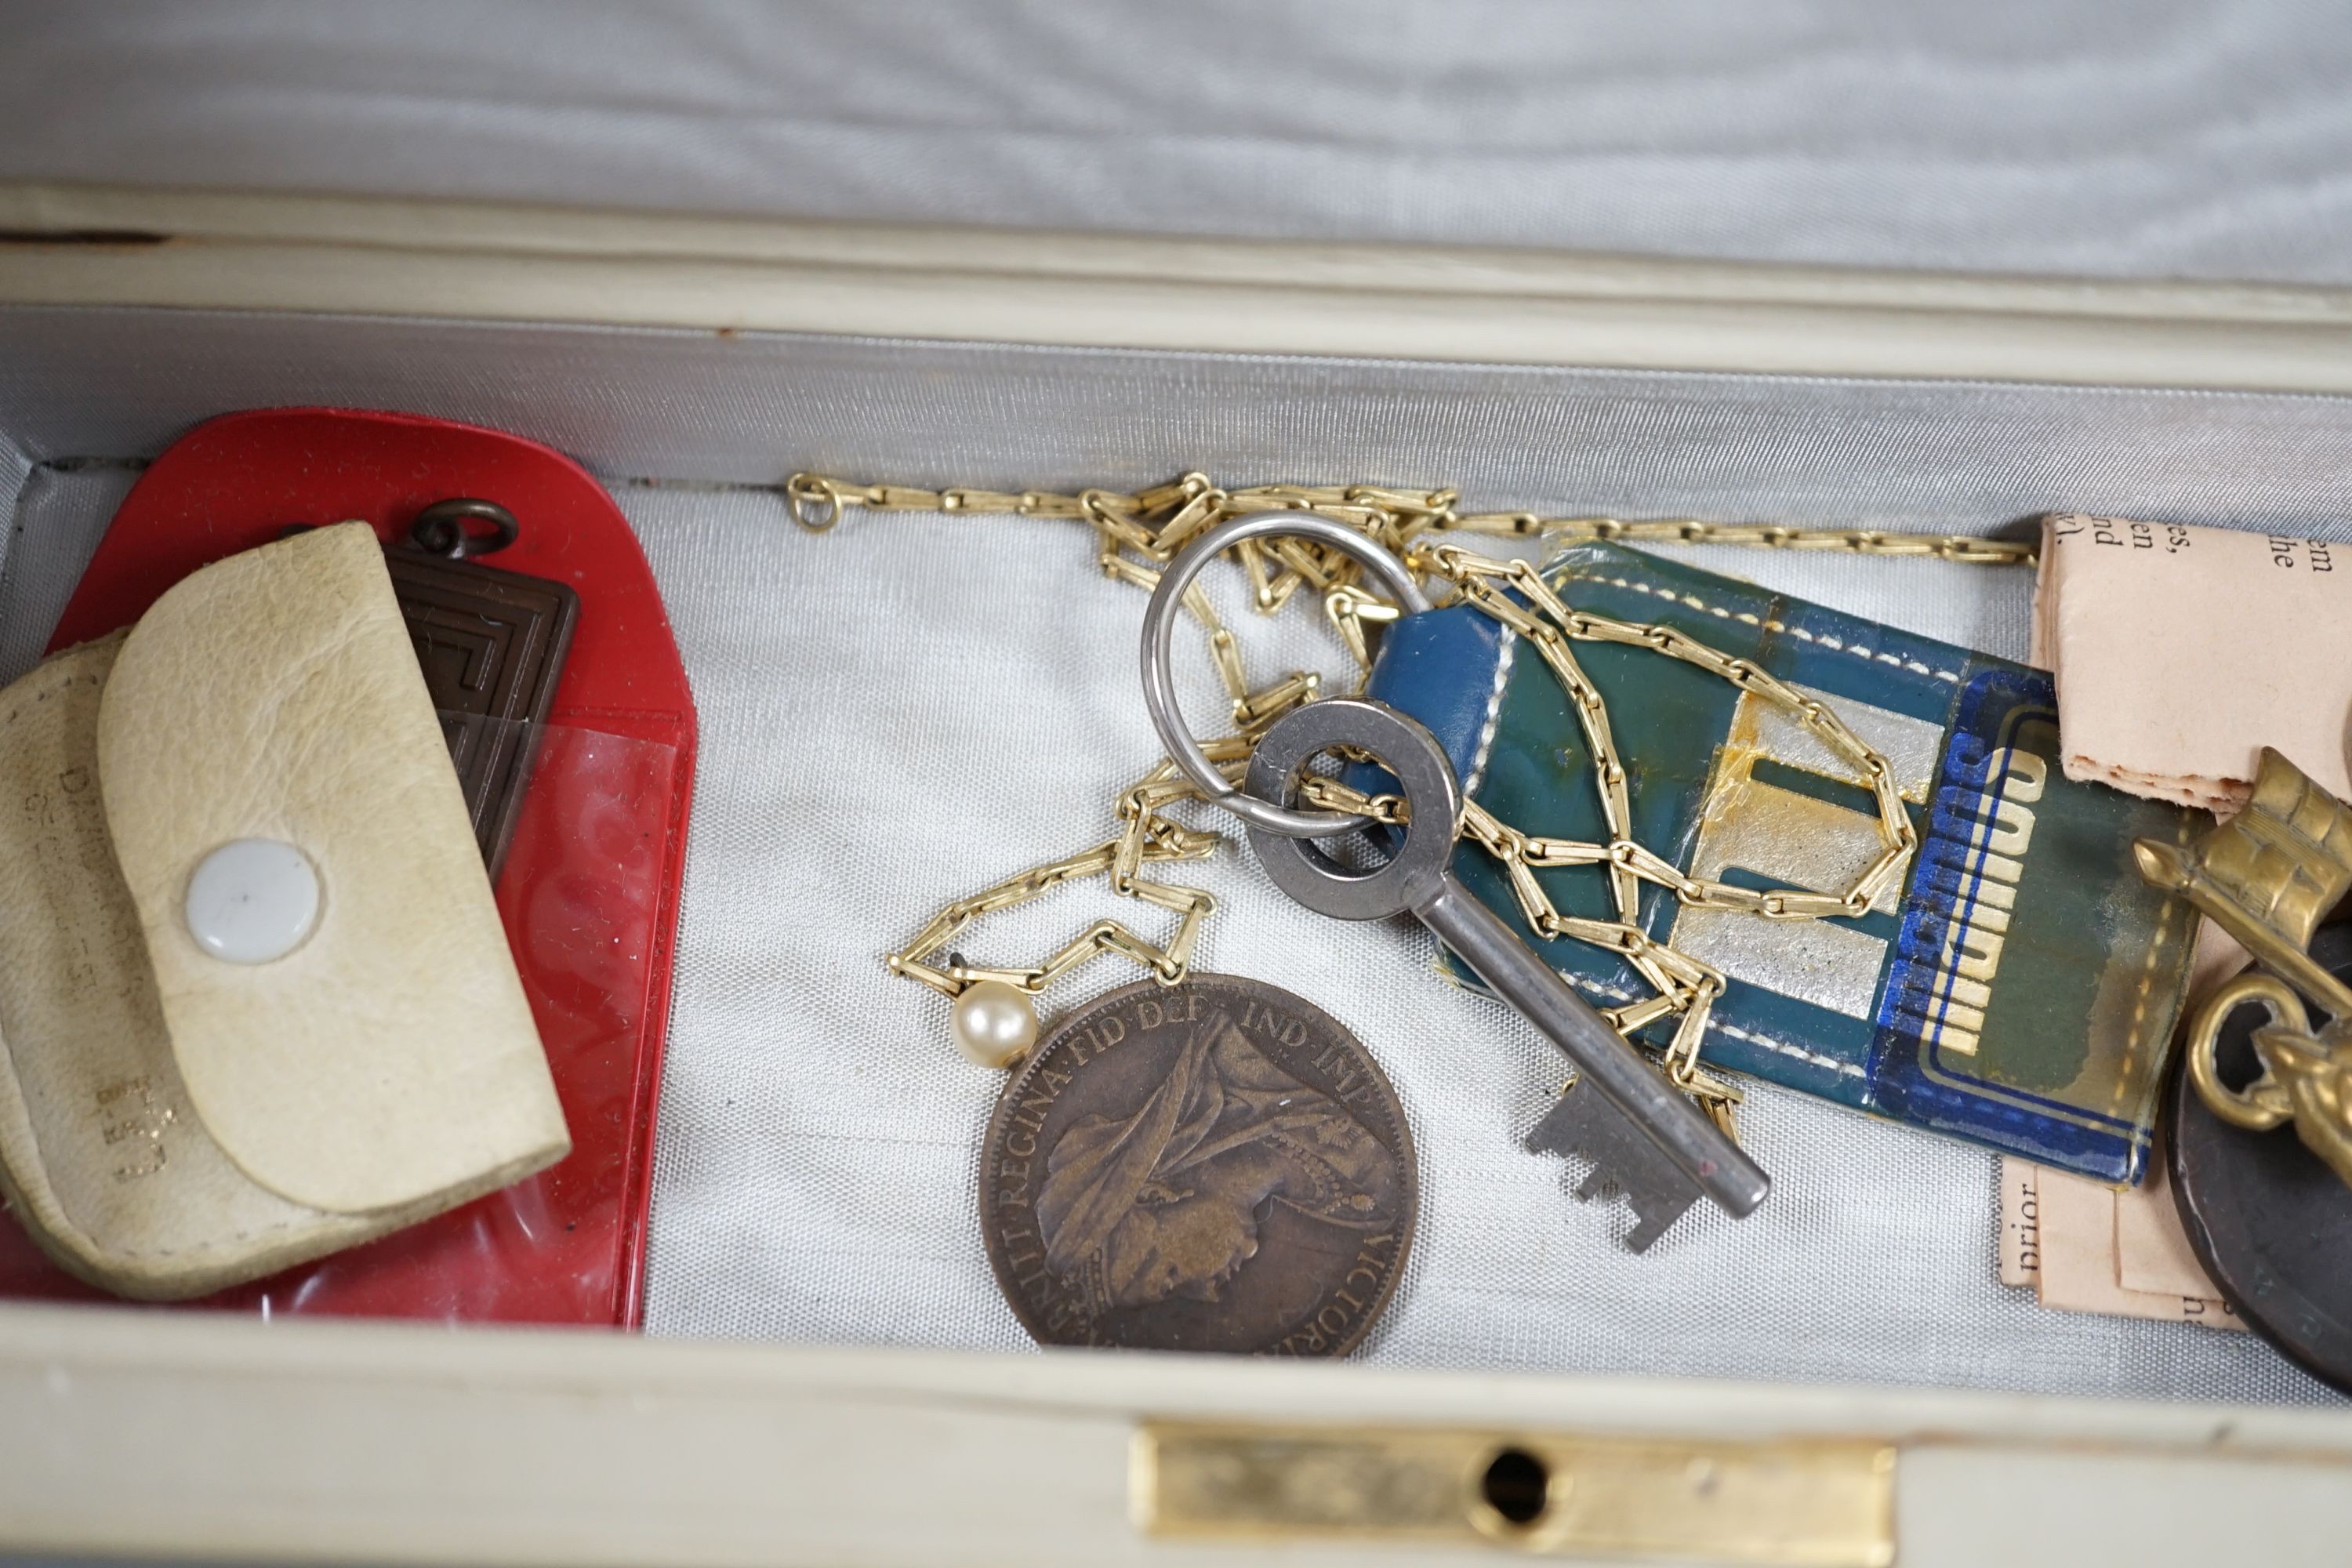
[[[1343,1356],[1421,1178],[1397,1091],[1277,985],[1143,980],[1063,1018],[981,1147],[981,1232],[1040,1345]]]

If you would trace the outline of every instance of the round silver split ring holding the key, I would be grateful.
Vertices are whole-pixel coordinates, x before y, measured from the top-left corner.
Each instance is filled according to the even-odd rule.
[[[1251,512],[1249,517],[1221,522],[1169,562],[1167,571],[1160,574],[1160,588],[1152,590],[1150,607],[1143,611],[1143,708],[1150,710],[1152,729],[1160,731],[1160,743],[1169,748],[1169,759],[1176,769],[1200,785],[1204,799],[1232,811],[1251,827],[1279,832],[1287,839],[1324,839],[1336,832],[1369,827],[1371,818],[1355,811],[1294,811],[1235,790],[1216,771],[1216,764],[1209,762],[1209,755],[1200,750],[1200,741],[1185,729],[1183,712],[1176,708],[1176,679],[1169,668],[1169,654],[1176,646],[1176,616],[1183,614],[1185,590],[1209,562],[1232,545],[1268,536],[1312,538],[1319,545],[1329,545],[1378,578],[1381,588],[1390,592],[1404,614],[1418,616],[1430,609],[1430,597],[1421,592],[1421,583],[1404,569],[1404,562],[1345,522],[1317,517],[1315,512]]]

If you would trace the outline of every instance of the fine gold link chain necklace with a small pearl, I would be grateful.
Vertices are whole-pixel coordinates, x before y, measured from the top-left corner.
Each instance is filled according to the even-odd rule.
[[[1470,804],[1463,813],[1463,835],[1503,865],[1519,900],[1519,912],[1538,936],[1606,947],[1651,985],[1653,994],[1604,1009],[1604,1016],[1625,1034],[1661,1018],[1677,1018],[1672,1041],[1663,1053],[1665,1072],[1684,1093],[1705,1105],[1726,1133],[1731,1131],[1731,1107],[1740,1100],[1740,1093],[1698,1065],[1700,1039],[1705,1037],[1715,999],[1724,990],[1724,976],[1668,943],[1649,938],[1639,929],[1639,884],[1663,886],[1689,907],[1738,910],[1762,919],[1860,914],[1903,875],[1903,865],[1917,846],[1917,830],[1896,790],[1893,771],[1830,708],[1773,679],[1750,661],[1719,654],[1670,625],[1571,611],[1529,562],[1494,559],[1461,543],[1430,536],[1486,534],[1541,538],[1555,545],[1581,538],[1722,543],[1776,550],[1844,550],[1851,555],[1931,555],[1966,564],[2032,564],[2034,559],[2034,550],[2027,543],[1971,536],[1722,524],[1691,517],[1625,522],[1618,517],[1463,512],[1458,508],[1458,491],[1451,489],[1404,491],[1374,484],[1261,484],[1223,489],[1200,473],[1188,473],[1181,480],[1136,494],[1089,489],[1075,496],[969,487],[847,484],[823,475],[795,473],[786,480],[783,494],[795,522],[809,531],[833,529],[851,508],[1068,517],[1094,529],[1098,541],[1096,562],[1108,576],[1143,590],[1160,583],[1160,567],[1174,559],[1185,543],[1228,517],[1310,510],[1362,529],[1369,538],[1404,559],[1418,576],[1451,590],[1451,602],[1470,604],[1524,637],[1576,708],[1578,726],[1592,752],[1609,839],[1534,837],[1498,820],[1477,804]],[[1364,625],[1392,621],[1397,611],[1362,588],[1362,569],[1355,562],[1336,550],[1291,538],[1263,545],[1247,541],[1235,545],[1232,555],[1249,576],[1251,602],[1258,614],[1277,614],[1301,588],[1319,595],[1324,618],[1355,658],[1359,677],[1371,672]],[[1204,750],[1228,780],[1240,783],[1258,733],[1291,708],[1319,696],[1322,682],[1312,672],[1291,672],[1254,691],[1244,675],[1232,630],[1216,616],[1200,585],[1185,595],[1185,609],[1209,632],[1209,654],[1232,703],[1235,733],[1207,743]],[[1606,703],[1576,663],[1576,642],[1616,642],[1651,649],[1719,675],[1738,691],[1785,710],[1837,757],[1851,764],[1858,783],[1872,792],[1879,809],[1879,856],[1844,893],[1820,893],[1813,889],[1757,891],[1686,877],[1668,858],[1635,842],[1632,811],[1625,795],[1625,764],[1611,736]],[[993,1067],[1018,1060],[1028,1044],[1035,1041],[1037,1023],[1028,999],[1096,954],[1115,952],[1141,964],[1164,985],[1181,983],[1190,969],[1200,926],[1214,912],[1216,900],[1204,889],[1148,879],[1143,877],[1143,867],[1174,860],[1204,860],[1216,853],[1216,846],[1223,842],[1221,835],[1185,827],[1164,816],[1169,806],[1188,799],[1200,799],[1200,790],[1171,762],[1162,759],[1160,766],[1120,792],[1115,809],[1120,830],[1115,837],[1065,860],[1035,865],[1018,877],[950,903],[931,917],[913,943],[889,954],[891,973],[922,980],[957,1001],[957,1044],[974,1060]],[[1397,797],[1367,797],[1336,778],[1319,776],[1305,780],[1303,804],[1355,811],[1390,823],[1399,820],[1402,813]],[[1564,865],[1606,867],[1616,919],[1585,919],[1559,912],[1536,879],[1536,872]],[[997,969],[969,964],[957,952],[948,952],[946,961],[934,961],[934,954],[941,954],[978,917],[1040,898],[1065,882],[1101,875],[1108,875],[1112,893],[1174,912],[1178,917],[1176,933],[1164,945],[1155,945],[1117,919],[1101,919],[1040,964]],[[967,1020],[962,1016],[964,1001],[981,985],[988,985],[988,992],[983,992],[988,999],[1016,997],[1018,1009],[1007,1013],[997,1006],[990,1009],[985,1023],[978,1018]]]

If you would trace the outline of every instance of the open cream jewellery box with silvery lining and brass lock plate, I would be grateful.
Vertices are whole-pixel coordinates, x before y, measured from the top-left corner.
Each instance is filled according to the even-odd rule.
[[[1983,1150],[1759,1088],[1771,1201],[1635,1258],[1517,1143],[1550,1048],[1418,931],[1282,900],[1237,837],[1200,867],[1200,961],[1381,1060],[1421,1150],[1411,1265],[1343,1363],[1035,1349],[974,1225],[997,1079],[882,954],[1157,759],[1143,602],[1068,522],[818,534],[783,480],[1197,468],[1548,515],[2352,538],[2343,294],[54,186],[0,190],[0,675],[198,421],[400,409],[612,489],[701,715],[644,1333],[0,1305],[0,1549],[2340,1561],[2343,1401],[2253,1335],[1997,1284]],[[1670,552],[2027,654],[2027,571]],[[985,940],[1047,950],[1087,896]]]

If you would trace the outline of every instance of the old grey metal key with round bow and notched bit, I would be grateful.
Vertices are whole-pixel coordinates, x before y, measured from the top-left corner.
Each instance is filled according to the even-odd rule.
[[[1308,703],[1258,741],[1249,795],[1289,806],[1305,764],[1334,748],[1369,752],[1397,776],[1409,816],[1404,837],[1385,865],[1350,870],[1312,839],[1251,825],[1249,842],[1275,886],[1336,919],[1414,914],[1559,1046],[1576,1065],[1576,1081],[1526,1145],[1590,1159],[1592,1175],[1578,1197],[1616,1185],[1635,1211],[1635,1229],[1625,1237],[1632,1251],[1663,1237],[1700,1192],[1733,1218],[1755,1213],[1771,1178],[1454,877],[1461,785],[1428,729],[1364,698]]]

